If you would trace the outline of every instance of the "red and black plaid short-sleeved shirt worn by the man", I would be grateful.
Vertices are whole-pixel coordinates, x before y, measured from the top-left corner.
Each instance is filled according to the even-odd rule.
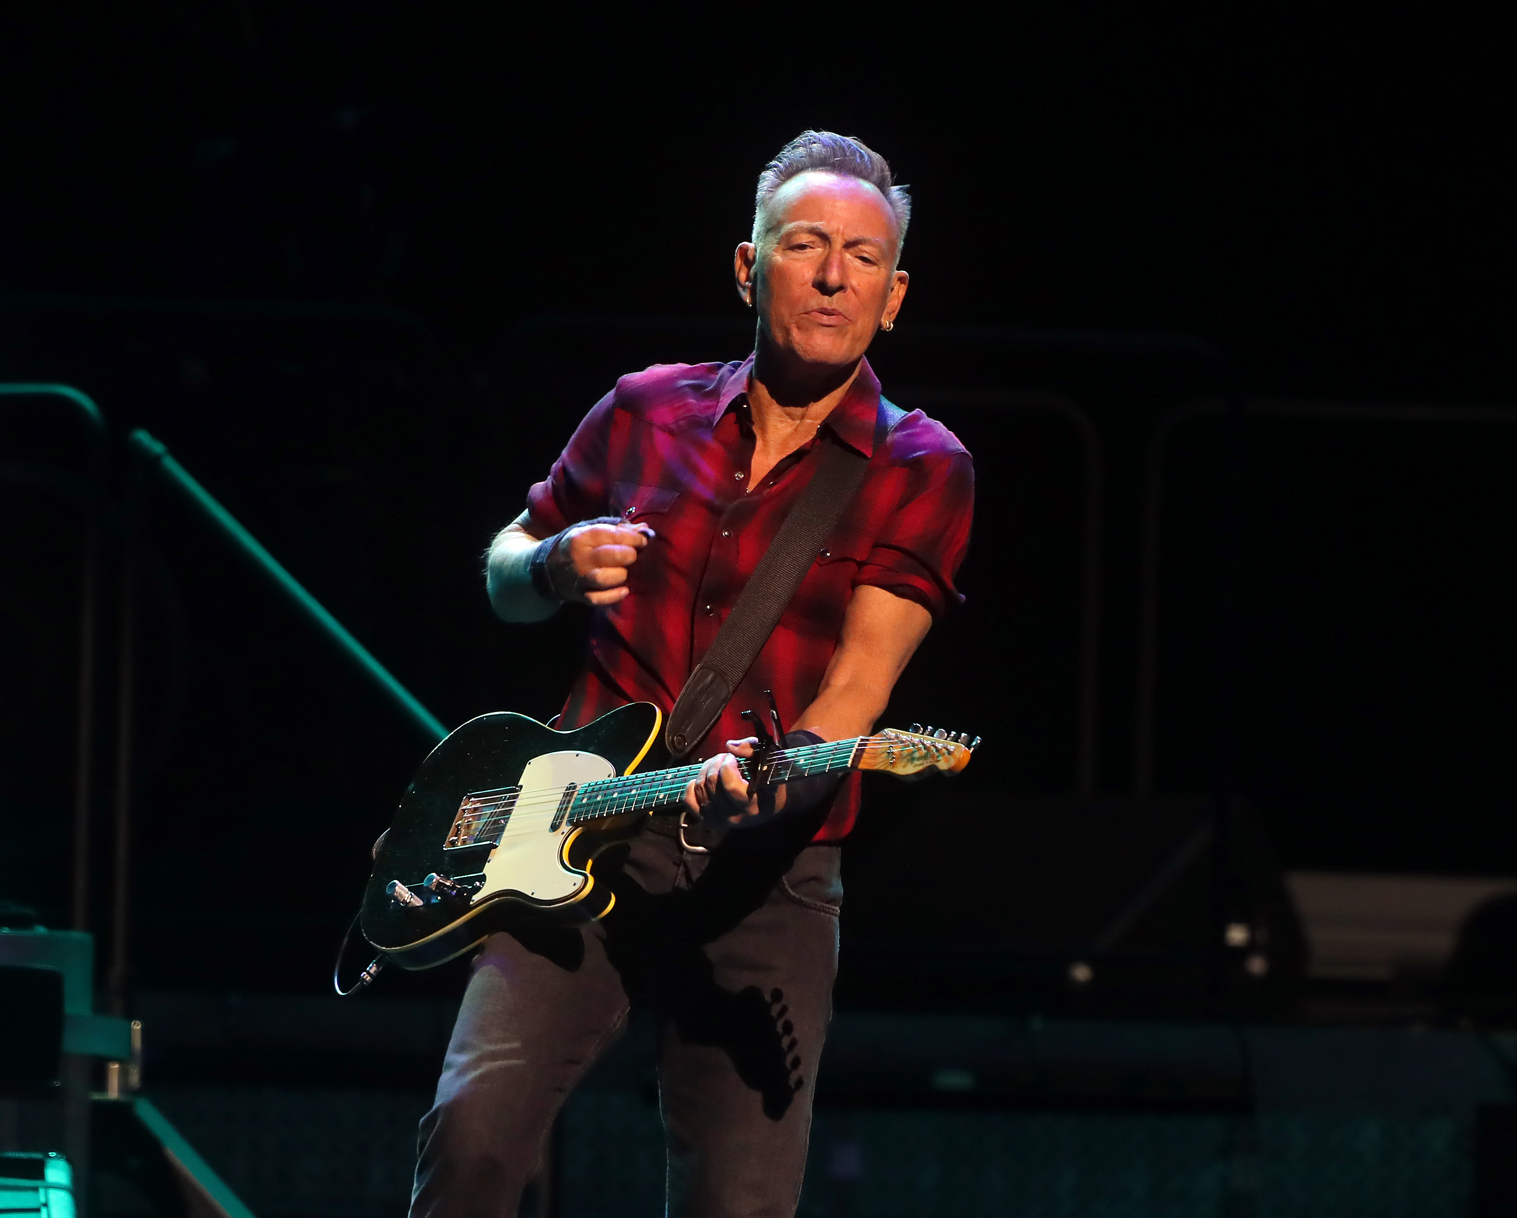
[[[617,381],[575,431],[548,479],[528,493],[528,529],[548,537],[596,516],[646,520],[657,537],[628,570],[631,595],[595,610],[586,666],[564,728],[625,702],[674,707],[796,496],[822,443],[813,438],[748,485],[754,434],[742,364],[655,364]],[[894,425],[892,425],[894,420]],[[869,458],[863,484],[722,717],[692,752],[710,757],[749,734],[739,717],[772,689],[786,728],[822,683],[843,613],[862,584],[916,601],[934,619],[963,598],[954,572],[969,543],[974,466],[953,432],[921,411],[889,419],[868,363],[822,432]],[[818,840],[859,813],[859,775],[833,799]]]

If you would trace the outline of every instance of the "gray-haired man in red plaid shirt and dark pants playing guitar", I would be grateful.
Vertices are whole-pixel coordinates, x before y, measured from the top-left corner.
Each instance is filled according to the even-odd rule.
[[[715,727],[684,815],[596,863],[616,895],[584,928],[522,925],[473,962],[413,1215],[514,1218],[564,1097],[622,1031],[658,1021],[669,1213],[790,1215],[837,969],[850,781],[758,793],[740,714],[774,692],[787,745],[869,733],[931,623],[962,598],[974,470],[919,411],[880,396],[865,350],[906,297],[910,199],[859,140],[804,132],[758,177],[737,294],[754,352],[623,376],[495,538],[508,622],[595,607],[560,727],[625,702],[671,711],[828,450],[862,481]]]

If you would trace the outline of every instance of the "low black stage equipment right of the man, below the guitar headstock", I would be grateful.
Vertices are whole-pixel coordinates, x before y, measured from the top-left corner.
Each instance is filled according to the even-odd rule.
[[[871,795],[880,819],[913,798]],[[968,772],[916,798],[930,811],[845,862],[843,1001],[1115,1018],[1294,997],[1302,931],[1241,801],[1015,796]],[[934,822],[954,833],[912,828]]]

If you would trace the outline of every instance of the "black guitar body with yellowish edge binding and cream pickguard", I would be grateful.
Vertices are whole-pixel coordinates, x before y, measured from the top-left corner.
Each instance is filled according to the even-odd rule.
[[[511,713],[470,719],[431,752],[400,799],[364,892],[364,937],[400,968],[423,969],[520,918],[605,916],[614,895],[596,886],[595,855],[634,834],[646,813],[572,824],[563,792],[666,764],[661,725],[651,702],[575,731]],[[473,843],[484,825],[499,840]],[[461,892],[425,887],[434,874]]]

